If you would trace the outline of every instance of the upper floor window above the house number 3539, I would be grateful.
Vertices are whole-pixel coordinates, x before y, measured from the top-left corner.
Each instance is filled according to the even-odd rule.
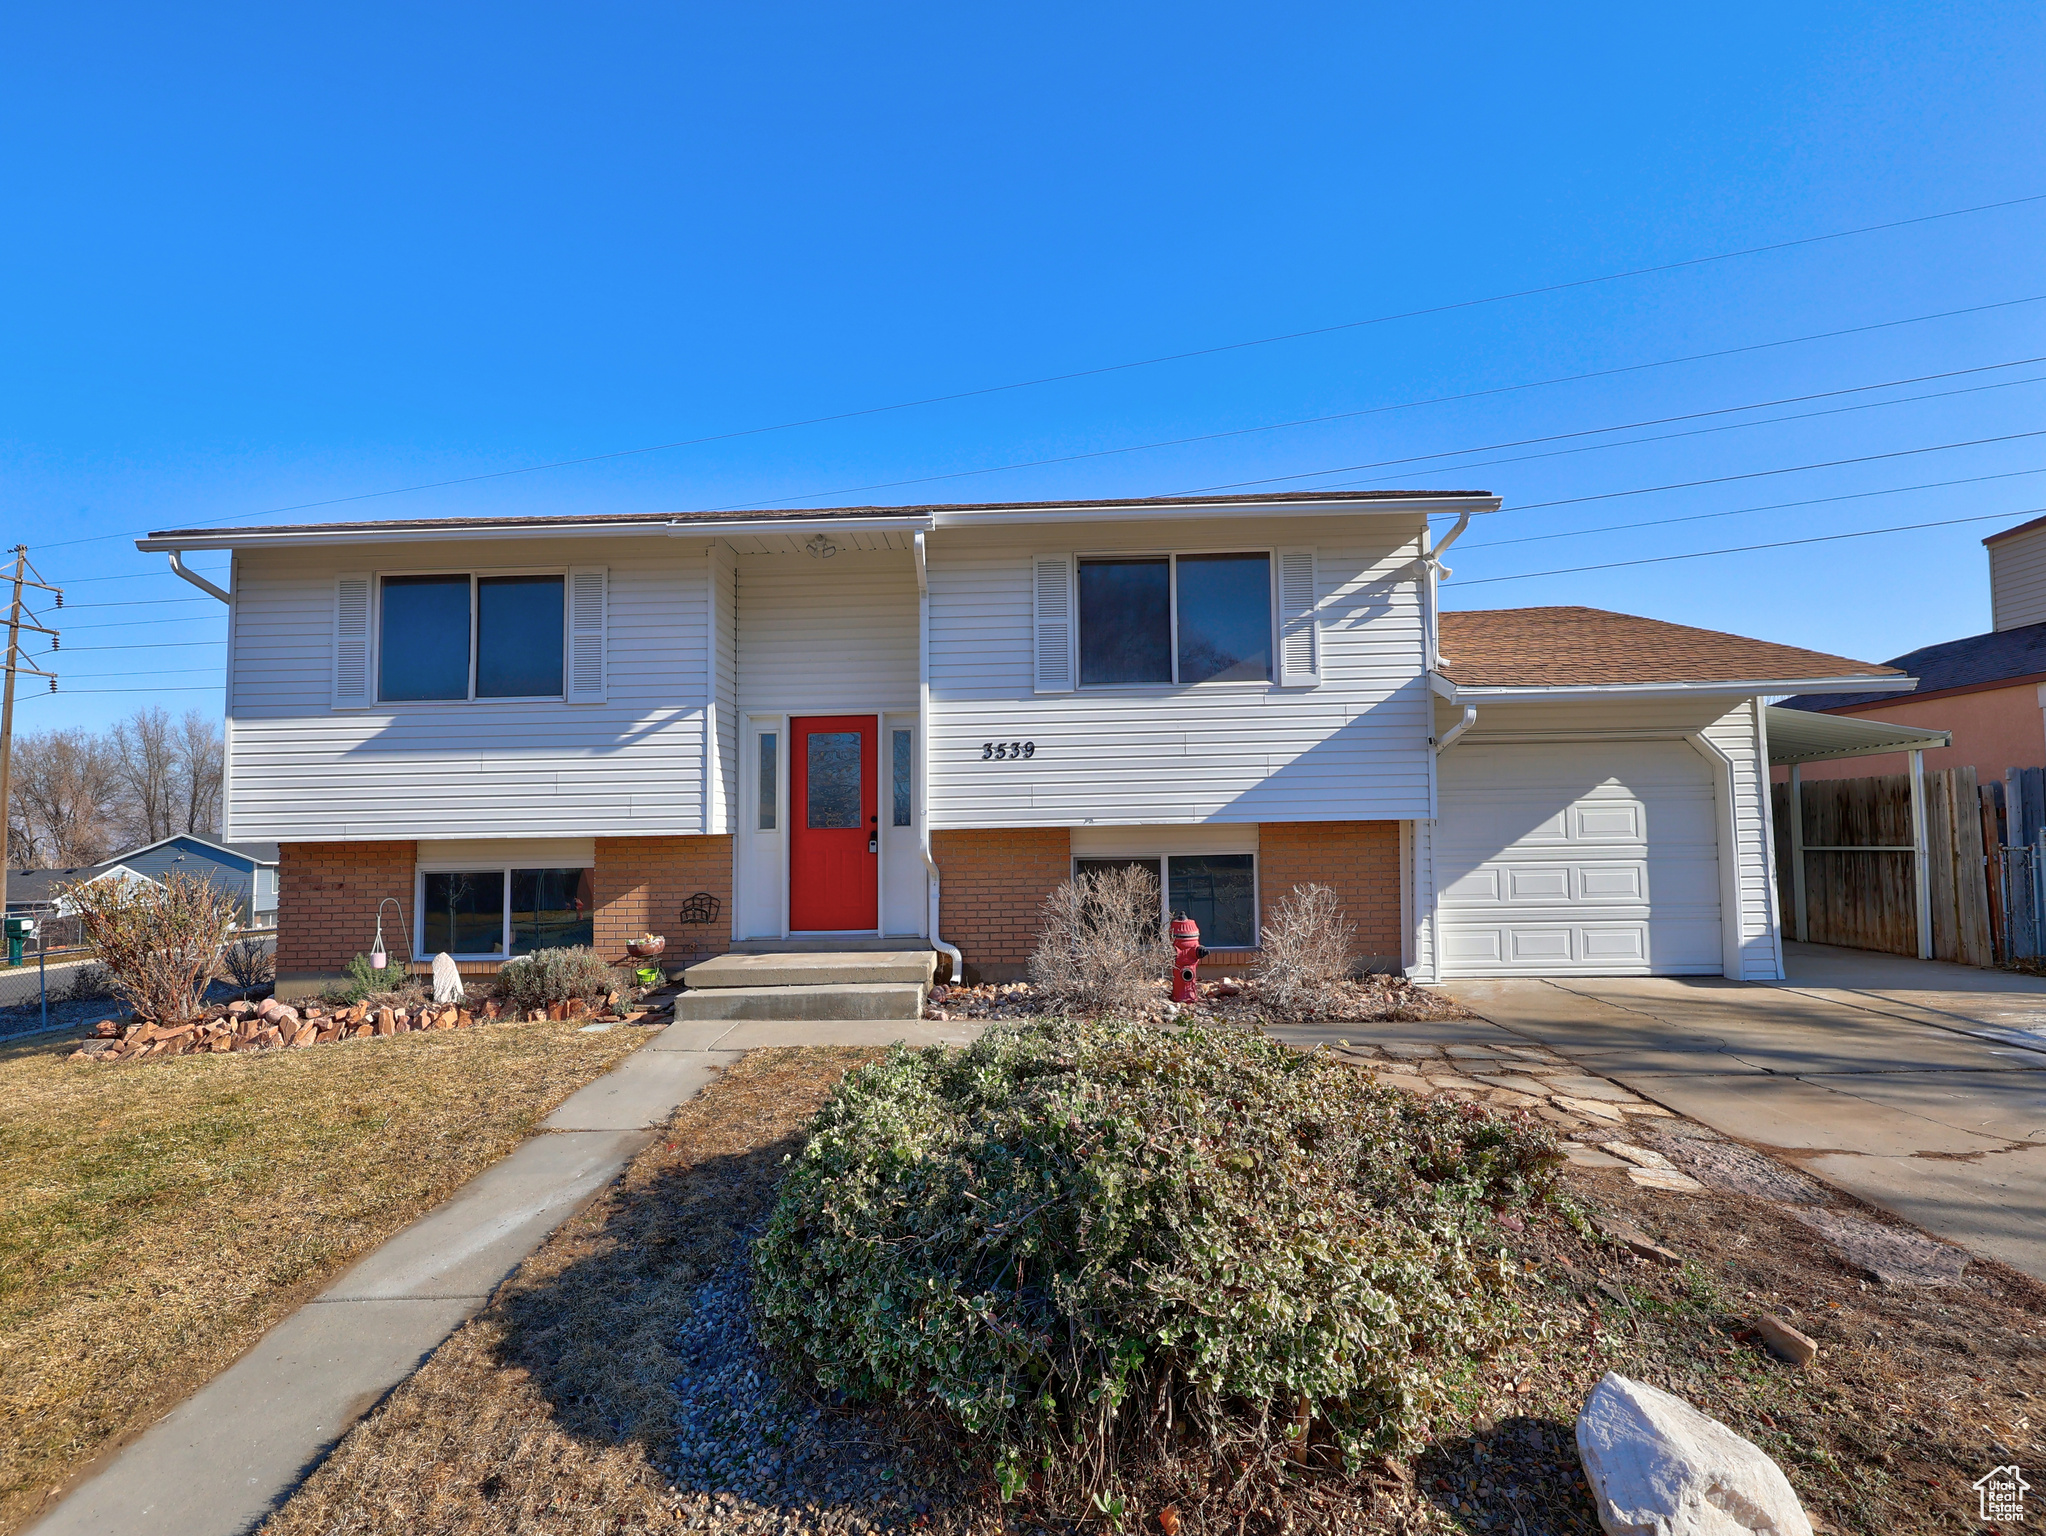
[[[1271,681],[1269,554],[1078,562],[1080,685]]]

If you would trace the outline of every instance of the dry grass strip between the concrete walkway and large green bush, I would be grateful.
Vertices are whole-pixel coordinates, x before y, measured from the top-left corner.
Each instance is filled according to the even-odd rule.
[[[677,1530],[675,1327],[773,1199],[833,1084],[876,1051],[753,1051],[336,1448],[264,1536]]]

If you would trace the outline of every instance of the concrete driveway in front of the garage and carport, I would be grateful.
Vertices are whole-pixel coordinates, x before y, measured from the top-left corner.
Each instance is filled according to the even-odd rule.
[[[2046,1280],[2046,980],[1788,945],[1790,980],[1451,982],[1502,1029]]]

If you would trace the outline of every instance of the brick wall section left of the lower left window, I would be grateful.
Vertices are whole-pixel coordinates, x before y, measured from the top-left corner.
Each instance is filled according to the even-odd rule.
[[[376,908],[385,908],[385,945],[403,959],[411,949],[411,869],[415,843],[280,843],[276,849],[278,982],[338,976],[370,951]]]

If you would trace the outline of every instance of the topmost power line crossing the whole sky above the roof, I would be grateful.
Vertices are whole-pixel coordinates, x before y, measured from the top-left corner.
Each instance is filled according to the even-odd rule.
[[[1978,205],[1966,207],[1966,209],[1946,209],[1942,213],[1925,213],[1925,215],[1917,215],[1913,219],[1891,219],[1891,221],[1884,221],[1884,223],[1860,225],[1856,229],[1835,229],[1835,231],[1829,231],[1829,233],[1823,233],[1823,235],[1805,235],[1805,237],[1798,237],[1798,239],[1782,239],[1782,241],[1772,241],[1768,245],[1747,245],[1747,247],[1733,250],[1733,252],[1715,252],[1710,256],[1692,256],[1692,258],[1686,258],[1682,262],[1661,262],[1661,264],[1655,264],[1655,266],[1639,266],[1639,268],[1629,268],[1629,270],[1622,270],[1622,272],[1604,272],[1600,276],[1590,276],[1590,278],[1571,278],[1567,282],[1549,282],[1549,284],[1541,284],[1541,286],[1534,286],[1534,288],[1516,288],[1516,290],[1510,290],[1510,292],[1487,295],[1483,299],[1459,299],[1459,301],[1453,301],[1453,303],[1447,303],[1447,305],[1428,305],[1428,307],[1422,307],[1422,309],[1404,309],[1404,311],[1393,311],[1393,313],[1385,313],[1385,315],[1371,315],[1367,319],[1340,321],[1340,323],[1334,323],[1334,325],[1316,325],[1316,327],[1309,327],[1309,329],[1303,329],[1303,331],[1281,331],[1277,335],[1260,335],[1260,337],[1252,337],[1252,340],[1246,340],[1246,342],[1226,342],[1226,344],[1219,344],[1219,346],[1195,348],[1195,350],[1189,350],[1189,352],[1168,352],[1168,354],[1160,354],[1160,356],[1154,356],[1154,358],[1140,358],[1140,360],[1133,360],[1133,362],[1115,362],[1115,364],[1103,364],[1099,368],[1078,368],[1078,370],[1062,372],[1062,374],[1043,374],[1039,378],[1023,378],[1023,380],[1015,380],[1015,382],[1007,382],[1007,385],[984,385],[980,389],[953,391],[949,395],[927,395],[923,399],[896,401],[892,405],[870,405],[870,407],[861,407],[861,409],[853,409],[853,411],[833,411],[833,413],[827,413],[827,415],[800,417],[800,419],[794,419],[794,421],[777,421],[777,423],[763,425],[763,427],[741,427],[741,430],[735,430],[735,432],[718,432],[718,434],[708,434],[708,436],[700,436],[700,438],[677,438],[675,442],[649,444],[649,446],[642,446],[642,448],[618,448],[618,450],[604,452],[604,454],[583,454],[579,458],[561,458],[561,460],[550,460],[550,462],[544,462],[544,464],[522,464],[522,466],[505,468],[505,470],[487,470],[483,475],[460,475],[460,477],[446,479],[446,481],[428,481],[428,483],[419,483],[419,485],[399,485],[399,487],[391,487],[391,489],[385,489],[385,491],[360,491],[356,495],[327,497],[323,501],[299,501],[299,503],[293,503],[293,505],[286,505],[286,507],[270,507],[266,511],[256,511],[256,513],[233,513],[231,517],[213,517],[213,519],[207,519],[205,524],[196,524],[196,526],[233,522],[235,517],[243,517],[243,515],[248,515],[248,517],[274,517],[274,515],[282,515],[286,511],[313,511],[313,509],[319,509],[319,507],[340,507],[340,505],[348,505],[348,503],[356,503],[356,501],[374,501],[379,497],[411,495],[415,491],[444,491],[444,489],[450,489],[450,487],[456,487],[456,485],[477,485],[481,481],[499,481],[499,479],[509,479],[509,477],[516,477],[516,475],[536,475],[540,470],[575,468],[575,466],[581,466],[581,464],[599,464],[599,462],[608,462],[608,460],[616,460],[616,458],[634,458],[634,456],[640,456],[640,454],[659,454],[659,452],[669,452],[669,450],[675,450],[675,448],[698,448],[698,446],[712,444],[712,442],[732,442],[737,438],[757,438],[757,436],[765,436],[765,434],[773,434],[773,432],[794,432],[798,427],[827,425],[827,423],[833,423],[833,421],[855,421],[859,417],[886,415],[886,413],[892,413],[892,411],[910,411],[910,409],[921,409],[921,407],[927,407],[927,405],[947,405],[947,403],[953,403],[953,401],[978,399],[978,397],[984,397],[984,395],[1003,395],[1003,393],[1013,393],[1013,391],[1021,391],[1021,389],[1037,389],[1037,387],[1043,387],[1043,385],[1062,385],[1062,382],[1072,382],[1076,378],[1099,378],[1099,376],[1105,376],[1105,374],[1129,372],[1129,370],[1136,370],[1136,368],[1156,368],[1156,366],[1166,364],[1166,362],[1187,362],[1187,360],[1193,360],[1193,358],[1211,358],[1211,356],[1221,356],[1221,354],[1228,354],[1228,352],[1244,352],[1244,350],[1250,350],[1250,348],[1277,346],[1277,344],[1283,344],[1283,342],[1301,342],[1301,340],[1316,337],[1316,335],[1334,335],[1334,333],[1340,333],[1340,331],[1354,331],[1354,329],[1363,329],[1363,327],[1371,327],[1371,325],[1389,325],[1393,321],[1404,321],[1404,319],[1424,319],[1428,315],[1449,315],[1449,313],[1457,313],[1457,311],[1463,311],[1463,309],[1481,309],[1485,305],[1502,305],[1502,303],[1510,303],[1510,301],[1516,301],[1516,299],[1537,299],[1537,297],[1543,297],[1543,295],[1569,292],[1573,288],[1590,288],[1590,286],[1598,286],[1598,284],[1604,284],[1604,282],[1622,282],[1622,280],[1629,280],[1629,278],[1655,276],[1655,274],[1661,274],[1661,272],[1682,272],[1682,270],[1694,268],[1694,266],[1710,266],[1715,262],[1731,262],[1731,260],[1739,260],[1739,258],[1747,258],[1747,256],[1768,256],[1768,254],[1774,254],[1774,252],[1798,250],[1803,245],[1821,245],[1821,243],[1827,243],[1827,241],[1833,241],[1833,239],[1852,239],[1852,237],[1858,237],[1858,235],[1874,235],[1874,233],[1884,233],[1884,231],[1891,231],[1891,229],[1907,229],[1907,227],[1913,227],[1913,225],[1938,223],[1942,219],[1960,219],[1960,217],[1968,217],[1968,215],[1976,215],[1976,213],[1997,213],[2001,209],[2015,209],[2015,207],[2023,207],[2023,205],[2040,202],[2040,200],[2046,200],[2046,192],[2034,192],[2034,194],[2028,194],[2028,196],[2005,198],[2001,202],[1978,202]],[[2026,303],[2026,301],[2017,301],[2017,303]],[[1966,311],[1954,311],[1954,313],[1966,313]],[[820,491],[816,495],[837,495],[837,493],[833,493],[833,491]],[[794,497],[794,499],[806,499],[806,497]],[[745,503],[745,505],[761,505],[761,503]],[[100,542],[104,538],[129,538],[129,536],[131,534],[98,534],[98,536],[92,536],[92,538],[59,540],[55,544],[45,544],[43,548],[61,548],[61,546],[70,546],[70,544],[94,544],[94,542]]]

